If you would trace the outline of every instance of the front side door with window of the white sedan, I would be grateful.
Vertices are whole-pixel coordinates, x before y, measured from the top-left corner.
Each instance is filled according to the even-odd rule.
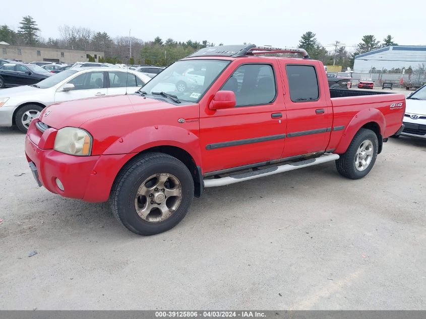
[[[107,94],[107,72],[92,71],[79,74],[67,84],[73,84],[75,89],[63,91],[62,87],[55,92],[54,102],[71,101]]]

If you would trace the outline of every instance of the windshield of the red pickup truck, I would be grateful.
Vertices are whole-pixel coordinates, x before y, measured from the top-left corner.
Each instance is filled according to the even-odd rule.
[[[164,92],[178,99],[197,102],[229,64],[226,60],[181,60],[164,69],[140,91]]]

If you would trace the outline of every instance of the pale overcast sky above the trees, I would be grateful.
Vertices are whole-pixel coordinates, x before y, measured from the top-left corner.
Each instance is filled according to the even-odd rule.
[[[379,40],[391,34],[399,45],[426,45],[426,2],[408,4],[400,0],[40,0],[35,5],[19,0],[19,7],[2,8],[0,24],[17,30],[22,17],[30,15],[45,39],[60,37],[58,26],[66,24],[105,31],[111,37],[128,36],[130,30],[144,41],[159,36],[163,40],[291,47],[297,46],[303,33],[312,31],[329,50],[340,41],[353,51],[366,34]]]

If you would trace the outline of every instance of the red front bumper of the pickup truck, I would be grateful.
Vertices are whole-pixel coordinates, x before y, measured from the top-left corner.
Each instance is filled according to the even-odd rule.
[[[73,156],[40,149],[28,136],[25,154],[28,162],[35,165],[38,179],[47,190],[87,202],[107,201],[118,171],[135,155]],[[64,190],[56,185],[56,178],[64,185]]]

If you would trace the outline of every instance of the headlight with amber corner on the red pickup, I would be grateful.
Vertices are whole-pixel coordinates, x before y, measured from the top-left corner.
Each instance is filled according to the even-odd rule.
[[[56,133],[53,149],[58,152],[89,156],[92,151],[92,136],[77,127],[64,127]]]

